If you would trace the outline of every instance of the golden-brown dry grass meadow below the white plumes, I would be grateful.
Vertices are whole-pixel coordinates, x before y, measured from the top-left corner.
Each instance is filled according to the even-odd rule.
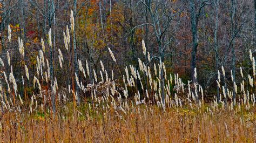
[[[256,108],[231,110],[173,108],[163,112],[154,105],[128,111],[82,106],[76,113],[54,117],[2,114],[3,142],[255,142]]]

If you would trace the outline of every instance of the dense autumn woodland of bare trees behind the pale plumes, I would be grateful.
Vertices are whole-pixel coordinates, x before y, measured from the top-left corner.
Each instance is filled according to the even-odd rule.
[[[71,57],[75,57],[70,61],[64,58],[61,69],[58,49],[62,50],[63,57],[69,57],[64,46],[63,31],[66,25],[70,28],[71,10],[75,17],[75,37],[71,38],[75,39],[75,44],[71,42],[69,50]],[[8,63],[6,51],[10,53],[12,69],[20,85],[23,63],[28,66],[31,78],[36,75],[37,55],[42,49],[41,38],[46,45],[46,56],[51,55],[49,29],[52,30],[51,72],[59,86],[63,87],[72,85],[74,71],[79,75],[79,80],[92,82],[93,75],[84,78],[82,73],[79,74],[77,59],[83,65],[87,60],[90,74],[95,69],[98,76],[102,60],[105,70],[109,73],[113,70],[115,78],[122,81],[120,72],[124,74],[125,71],[121,68],[119,72],[107,47],[114,53],[120,67],[132,64],[138,69],[138,58],[153,67],[153,63],[158,63],[161,58],[168,73],[178,73],[185,83],[187,80],[198,81],[208,96],[219,94],[216,80],[221,66],[227,71],[226,84],[231,88],[231,70],[234,81],[242,80],[240,76],[235,77],[240,73],[240,67],[245,75],[252,73],[248,56],[249,49],[253,55],[256,53],[252,0],[6,0],[2,11],[1,57]],[[11,43],[8,41],[9,24]],[[24,42],[24,60],[18,56],[18,37]],[[147,61],[148,53],[143,54],[143,39],[151,63]],[[193,78],[195,67],[198,79]],[[10,71],[10,67],[5,68]],[[26,87],[28,94],[32,94],[32,81],[27,84],[31,85]],[[22,91],[23,86],[18,88]]]

